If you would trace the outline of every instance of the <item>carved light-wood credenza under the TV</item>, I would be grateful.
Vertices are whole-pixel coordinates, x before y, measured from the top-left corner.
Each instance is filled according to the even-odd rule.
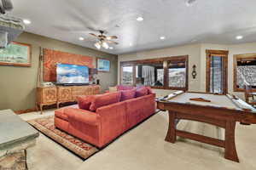
[[[40,108],[41,114],[44,105],[59,105],[67,102],[76,102],[79,95],[100,94],[101,87],[98,85],[90,86],[55,86],[37,88],[37,109]]]

